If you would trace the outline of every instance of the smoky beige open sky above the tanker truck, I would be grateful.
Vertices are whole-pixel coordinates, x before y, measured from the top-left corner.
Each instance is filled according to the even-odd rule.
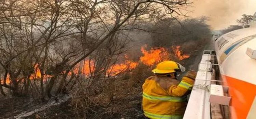
[[[256,0],[194,0],[188,8],[191,17],[207,16],[214,30],[237,24],[242,14],[253,15],[256,12]]]

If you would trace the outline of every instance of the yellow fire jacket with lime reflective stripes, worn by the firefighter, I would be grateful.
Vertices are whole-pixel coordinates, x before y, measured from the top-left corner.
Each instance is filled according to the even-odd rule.
[[[183,77],[179,82],[162,76],[149,77],[142,86],[144,115],[151,119],[182,119],[194,80]]]

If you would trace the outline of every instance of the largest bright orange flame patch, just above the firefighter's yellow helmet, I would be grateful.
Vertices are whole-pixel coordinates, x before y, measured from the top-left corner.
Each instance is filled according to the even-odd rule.
[[[165,61],[169,59],[169,53],[165,48],[151,48],[150,51],[145,50],[145,47],[141,47],[143,56],[140,57],[140,61],[147,66],[152,66],[155,63]]]

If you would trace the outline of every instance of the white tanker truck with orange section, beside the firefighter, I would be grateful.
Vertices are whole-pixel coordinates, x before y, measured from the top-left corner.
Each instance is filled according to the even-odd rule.
[[[184,119],[256,119],[256,13],[204,51]]]

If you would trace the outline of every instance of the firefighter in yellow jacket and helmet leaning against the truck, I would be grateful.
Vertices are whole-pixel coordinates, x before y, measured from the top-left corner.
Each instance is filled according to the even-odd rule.
[[[152,70],[155,74],[145,80],[142,107],[146,119],[182,119],[196,78],[195,71],[189,71],[179,82],[177,72],[185,68],[173,61],[164,61]]]

